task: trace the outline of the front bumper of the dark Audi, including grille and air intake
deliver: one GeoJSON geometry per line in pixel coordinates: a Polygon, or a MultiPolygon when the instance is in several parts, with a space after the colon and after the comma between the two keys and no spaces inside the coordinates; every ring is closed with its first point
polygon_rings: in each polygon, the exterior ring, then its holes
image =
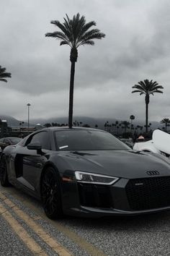
{"type": "Polygon", "coordinates": [[[63,201],[69,215],[134,216],[170,210],[170,176],[120,179],[111,186],[81,182],[72,186],[63,201]]]}

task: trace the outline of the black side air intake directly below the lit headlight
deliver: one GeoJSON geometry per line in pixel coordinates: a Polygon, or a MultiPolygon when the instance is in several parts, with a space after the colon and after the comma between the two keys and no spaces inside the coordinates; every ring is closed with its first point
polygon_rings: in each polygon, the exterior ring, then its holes
{"type": "Polygon", "coordinates": [[[80,204],[89,207],[113,207],[109,186],[78,183],[80,204]]]}

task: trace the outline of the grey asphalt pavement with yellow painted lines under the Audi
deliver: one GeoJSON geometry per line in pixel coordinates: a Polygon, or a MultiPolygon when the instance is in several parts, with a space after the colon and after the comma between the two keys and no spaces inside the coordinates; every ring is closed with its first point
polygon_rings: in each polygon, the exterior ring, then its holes
{"type": "Polygon", "coordinates": [[[51,221],[42,205],[0,187],[0,255],[170,255],[170,212],[51,221]]]}

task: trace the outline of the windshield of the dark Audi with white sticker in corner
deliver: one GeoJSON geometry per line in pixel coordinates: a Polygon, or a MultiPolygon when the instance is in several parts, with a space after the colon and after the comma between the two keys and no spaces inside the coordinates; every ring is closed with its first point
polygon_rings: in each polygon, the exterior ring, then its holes
{"type": "Polygon", "coordinates": [[[109,132],[85,129],[55,131],[58,150],[130,150],[109,132]]]}

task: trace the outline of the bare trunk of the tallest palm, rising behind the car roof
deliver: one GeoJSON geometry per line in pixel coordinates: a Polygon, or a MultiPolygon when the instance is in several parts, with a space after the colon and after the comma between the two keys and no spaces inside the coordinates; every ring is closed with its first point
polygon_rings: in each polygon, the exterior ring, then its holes
{"type": "Polygon", "coordinates": [[[70,95],[69,95],[69,111],[68,111],[68,127],[73,126],[73,83],[75,73],[75,61],[71,61],[71,77],[70,77],[70,95]]]}

